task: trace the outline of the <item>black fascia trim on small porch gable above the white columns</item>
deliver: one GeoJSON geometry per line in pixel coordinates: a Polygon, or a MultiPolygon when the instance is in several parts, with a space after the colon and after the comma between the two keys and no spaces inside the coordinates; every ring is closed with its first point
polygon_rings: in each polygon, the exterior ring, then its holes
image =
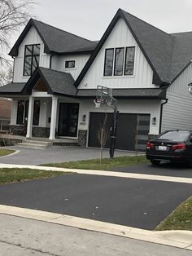
{"type": "Polygon", "coordinates": [[[24,86],[24,89],[22,90],[21,93],[26,95],[31,95],[33,86],[35,86],[35,84],[37,83],[40,77],[42,78],[43,82],[46,83],[46,86],[48,88],[48,93],[50,95],[53,95],[53,90],[51,90],[49,83],[46,81],[46,78],[41,73],[41,69],[38,67],[34,71],[33,75],[28,79],[28,82],[26,82],[26,85],[24,86]]]}

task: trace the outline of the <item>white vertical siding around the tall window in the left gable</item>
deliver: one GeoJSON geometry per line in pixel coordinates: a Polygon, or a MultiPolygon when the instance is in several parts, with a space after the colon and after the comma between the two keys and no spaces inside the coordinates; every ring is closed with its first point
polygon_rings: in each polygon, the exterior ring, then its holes
{"type": "Polygon", "coordinates": [[[18,56],[15,57],[13,82],[27,82],[29,77],[23,76],[24,71],[24,46],[30,44],[41,44],[39,65],[44,68],[50,66],[50,55],[44,53],[44,43],[42,42],[37,30],[32,27],[29,29],[23,42],[20,44],[18,56]]]}

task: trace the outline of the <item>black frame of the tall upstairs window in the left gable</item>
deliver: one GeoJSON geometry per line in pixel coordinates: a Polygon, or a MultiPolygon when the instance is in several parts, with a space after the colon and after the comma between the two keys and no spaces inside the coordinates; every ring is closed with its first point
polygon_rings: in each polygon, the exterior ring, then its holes
{"type": "Polygon", "coordinates": [[[40,52],[41,52],[41,44],[40,43],[29,44],[29,45],[25,45],[24,46],[24,70],[23,70],[23,76],[24,77],[29,77],[29,76],[31,76],[33,74],[33,72],[34,72],[34,70],[33,70],[33,59],[35,59],[35,61],[37,63],[37,67],[39,66],[40,52]],[[28,46],[32,46],[32,54],[30,54],[30,55],[26,53],[28,46]],[[38,54],[34,53],[34,46],[39,46],[39,53],[38,54]],[[25,74],[25,60],[26,60],[27,57],[31,57],[32,58],[32,60],[31,60],[31,67],[30,67],[30,74],[25,74]],[[38,61],[37,61],[36,57],[39,57],[38,61]]]}

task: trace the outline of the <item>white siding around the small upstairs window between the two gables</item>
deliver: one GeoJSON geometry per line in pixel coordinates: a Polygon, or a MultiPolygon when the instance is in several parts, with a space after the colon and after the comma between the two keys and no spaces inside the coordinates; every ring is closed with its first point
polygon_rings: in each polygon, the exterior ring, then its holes
{"type": "Polygon", "coordinates": [[[54,55],[52,57],[51,68],[59,70],[62,72],[71,73],[72,77],[76,78],[81,73],[81,70],[84,68],[87,60],[89,60],[89,54],[85,55],[54,55]],[[65,61],[75,60],[75,68],[65,68],[65,61]]]}

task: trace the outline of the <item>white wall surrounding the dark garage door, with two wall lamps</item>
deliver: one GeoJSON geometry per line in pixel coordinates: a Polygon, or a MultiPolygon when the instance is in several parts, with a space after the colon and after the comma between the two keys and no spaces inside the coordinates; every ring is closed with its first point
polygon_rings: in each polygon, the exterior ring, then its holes
{"type": "MultiPolygon", "coordinates": [[[[156,100],[119,100],[118,110],[120,113],[140,113],[140,114],[150,114],[150,134],[159,134],[159,118],[160,118],[160,103],[161,101],[156,100]],[[156,117],[156,124],[152,125],[152,118],[156,117]]],[[[95,104],[91,100],[83,100],[80,104],[79,110],[79,125],[78,130],[89,130],[89,113],[111,113],[113,112],[111,108],[107,105],[102,104],[100,108],[95,108],[95,104]],[[82,121],[83,115],[86,115],[86,121],[82,121]]]]}

